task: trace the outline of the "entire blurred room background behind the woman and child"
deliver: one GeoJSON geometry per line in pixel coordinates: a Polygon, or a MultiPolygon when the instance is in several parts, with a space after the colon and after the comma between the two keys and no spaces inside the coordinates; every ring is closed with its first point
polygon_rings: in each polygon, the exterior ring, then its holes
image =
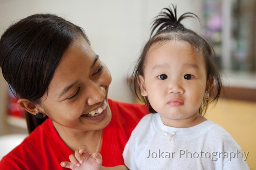
{"type": "MultiPolygon", "coordinates": [[[[224,90],[206,117],[223,126],[249,152],[256,170],[256,1],[255,0],[0,0],[0,35],[34,13],[53,13],[85,29],[93,50],[112,74],[109,98],[137,102],[127,79],[149,38],[150,23],[162,8],[177,4],[177,15],[201,18],[183,24],[204,35],[217,53],[224,90]]],[[[0,135],[27,134],[23,112],[0,75],[0,135]]],[[[1,159],[1,158],[0,158],[1,159]]]]}

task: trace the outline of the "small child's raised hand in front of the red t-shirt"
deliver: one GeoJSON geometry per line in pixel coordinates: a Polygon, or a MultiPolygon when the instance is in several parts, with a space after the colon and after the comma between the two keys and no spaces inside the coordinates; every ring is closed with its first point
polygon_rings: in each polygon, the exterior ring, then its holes
{"type": "Polygon", "coordinates": [[[100,170],[102,157],[100,153],[91,153],[84,145],[75,154],[69,155],[70,162],[61,162],[60,166],[72,170],[100,170]]]}

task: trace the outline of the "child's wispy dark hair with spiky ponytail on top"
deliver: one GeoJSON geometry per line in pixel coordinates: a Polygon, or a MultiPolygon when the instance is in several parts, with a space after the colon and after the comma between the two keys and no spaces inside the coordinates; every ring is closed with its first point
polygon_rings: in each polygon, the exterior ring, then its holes
{"type": "Polygon", "coordinates": [[[130,89],[134,92],[134,94],[139,98],[140,101],[148,104],[149,111],[151,113],[156,113],[156,111],[151,107],[148,98],[141,95],[140,88],[137,83],[138,76],[144,76],[145,60],[146,56],[148,55],[148,51],[153,44],[156,44],[158,42],[165,42],[170,40],[185,41],[192,47],[194,47],[194,49],[197,49],[197,52],[201,52],[204,57],[207,71],[206,90],[209,92],[209,98],[204,98],[201,107],[199,108],[199,113],[204,114],[207,110],[209,103],[217,103],[222,88],[220,71],[217,65],[214,63],[215,52],[206,39],[204,39],[202,36],[198,35],[194,31],[185,28],[181,24],[181,21],[184,18],[198,18],[198,16],[191,12],[187,12],[181,15],[180,18],[177,18],[176,6],[172,5],[172,7],[173,10],[170,6],[169,8],[163,8],[160,14],[155,17],[155,20],[153,21],[153,25],[151,27],[152,30],[150,39],[142,49],[142,53],[137,61],[137,64],[135,65],[135,69],[133,71],[130,81],[130,89]],[[153,34],[155,30],[156,33],[153,34]]]}

